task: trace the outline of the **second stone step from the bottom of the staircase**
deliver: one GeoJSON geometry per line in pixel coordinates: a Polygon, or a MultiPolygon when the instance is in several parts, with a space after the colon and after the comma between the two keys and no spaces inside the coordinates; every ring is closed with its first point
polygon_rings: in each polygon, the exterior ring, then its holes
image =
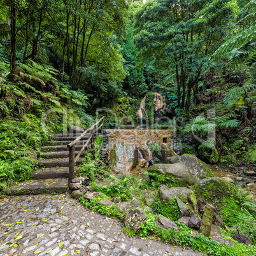
{"type": "MultiPolygon", "coordinates": [[[[80,167],[75,166],[75,172],[79,173],[80,167]]],[[[46,180],[54,178],[68,178],[68,167],[52,167],[52,168],[40,168],[31,173],[33,180],[46,180]]]]}

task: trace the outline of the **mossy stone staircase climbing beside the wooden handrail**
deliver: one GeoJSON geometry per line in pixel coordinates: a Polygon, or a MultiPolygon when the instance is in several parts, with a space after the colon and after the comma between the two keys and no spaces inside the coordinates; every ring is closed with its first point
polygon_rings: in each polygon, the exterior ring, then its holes
{"type": "MultiPolygon", "coordinates": [[[[54,134],[53,140],[48,142],[48,146],[41,147],[38,168],[31,174],[32,180],[13,185],[6,191],[10,195],[21,194],[55,194],[68,190],[69,176],[69,151],[67,145],[74,141],[77,134],[54,134]]],[[[76,143],[76,154],[82,149],[83,143],[90,134],[76,143]]],[[[90,144],[89,144],[90,145],[90,144]]],[[[85,152],[82,153],[76,162],[75,171],[79,173],[79,165],[83,162],[85,152]]]]}

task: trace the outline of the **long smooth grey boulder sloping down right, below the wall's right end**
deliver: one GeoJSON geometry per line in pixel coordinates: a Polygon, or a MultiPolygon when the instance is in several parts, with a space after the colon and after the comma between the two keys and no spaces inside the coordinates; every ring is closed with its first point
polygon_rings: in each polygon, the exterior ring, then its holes
{"type": "Polygon", "coordinates": [[[154,164],[148,168],[148,172],[173,177],[174,180],[181,186],[191,186],[196,183],[196,179],[190,173],[188,167],[182,163],[154,164]]]}

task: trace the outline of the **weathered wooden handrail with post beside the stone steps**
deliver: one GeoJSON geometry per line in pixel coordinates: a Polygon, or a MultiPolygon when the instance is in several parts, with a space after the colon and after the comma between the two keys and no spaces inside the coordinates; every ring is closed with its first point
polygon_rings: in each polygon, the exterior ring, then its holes
{"type": "Polygon", "coordinates": [[[90,140],[92,140],[94,138],[94,134],[95,132],[97,132],[99,129],[101,129],[101,127],[103,127],[103,123],[104,123],[104,118],[102,117],[101,119],[99,119],[98,122],[96,122],[94,125],[92,125],[89,129],[87,129],[86,131],[84,131],[78,138],[76,138],[74,141],[72,141],[71,143],[69,143],[68,148],[69,148],[69,178],[68,178],[68,183],[71,183],[71,180],[73,180],[73,178],[75,178],[75,164],[78,161],[80,155],[83,153],[83,151],[85,150],[85,148],[89,145],[90,140]],[[97,127],[96,129],[94,129],[98,124],[100,124],[102,122],[101,125],[99,125],[99,127],[97,127]],[[90,137],[89,139],[87,139],[87,141],[85,142],[85,145],[83,145],[82,149],[80,150],[80,152],[78,152],[78,154],[75,157],[75,152],[76,152],[76,143],[78,143],[78,141],[80,141],[80,139],[82,139],[85,134],[90,132],[90,137]]]}

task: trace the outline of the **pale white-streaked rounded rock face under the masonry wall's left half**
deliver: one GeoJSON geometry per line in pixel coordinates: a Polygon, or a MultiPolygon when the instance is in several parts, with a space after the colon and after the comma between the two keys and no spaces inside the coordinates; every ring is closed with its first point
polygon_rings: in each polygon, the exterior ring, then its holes
{"type": "Polygon", "coordinates": [[[134,145],[118,141],[110,150],[111,171],[123,174],[131,172],[138,164],[138,148],[134,145]]]}

